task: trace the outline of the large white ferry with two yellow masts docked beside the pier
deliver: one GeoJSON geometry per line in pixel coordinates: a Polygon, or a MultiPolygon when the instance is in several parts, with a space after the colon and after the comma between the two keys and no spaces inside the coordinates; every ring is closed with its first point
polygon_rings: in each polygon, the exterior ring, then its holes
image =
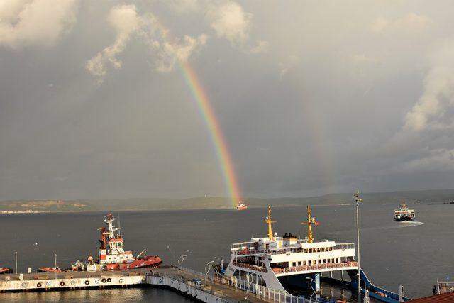
{"type": "MultiPolygon", "coordinates": [[[[287,292],[319,291],[323,282],[338,285],[342,289],[342,298],[338,299],[345,298],[343,290],[358,287],[355,244],[314,241],[312,228],[317,222],[311,216],[309,205],[307,221],[303,222],[308,226],[307,237],[304,239],[297,238],[292,233],[286,233],[284,236],[273,233],[272,224],[275,222],[271,218],[270,206],[265,222],[268,227],[267,237],[251,238],[248,242],[231,245],[231,260],[226,270],[223,270],[221,265],[220,272],[231,282],[243,280],[287,292]],[[348,279],[344,279],[344,272],[347,272],[348,279]]],[[[398,294],[375,287],[362,271],[361,285],[363,292],[367,287],[371,299],[375,298],[374,302],[399,302],[398,294]]],[[[348,302],[350,299],[355,300],[355,294],[348,297],[348,302]]],[[[408,298],[402,295],[402,299],[408,298]]]]}

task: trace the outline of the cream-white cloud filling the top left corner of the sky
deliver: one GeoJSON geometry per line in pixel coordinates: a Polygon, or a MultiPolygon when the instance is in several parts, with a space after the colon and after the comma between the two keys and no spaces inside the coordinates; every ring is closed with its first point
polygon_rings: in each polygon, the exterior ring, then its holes
{"type": "Polygon", "coordinates": [[[76,21],[77,0],[0,1],[0,45],[51,46],[76,21]]]}

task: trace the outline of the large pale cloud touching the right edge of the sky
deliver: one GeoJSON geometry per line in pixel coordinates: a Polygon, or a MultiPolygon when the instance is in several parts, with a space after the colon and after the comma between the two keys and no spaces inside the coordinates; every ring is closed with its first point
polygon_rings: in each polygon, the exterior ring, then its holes
{"type": "Polygon", "coordinates": [[[406,114],[404,129],[450,128],[453,117],[447,111],[454,106],[454,40],[431,55],[431,68],[424,79],[424,92],[406,114]]]}

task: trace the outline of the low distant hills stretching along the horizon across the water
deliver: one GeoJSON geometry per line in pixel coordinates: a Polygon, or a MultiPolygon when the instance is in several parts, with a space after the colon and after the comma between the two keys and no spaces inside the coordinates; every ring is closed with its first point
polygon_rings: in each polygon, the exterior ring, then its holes
{"type": "MultiPolygon", "coordinates": [[[[367,203],[399,204],[402,201],[421,201],[424,203],[442,203],[454,200],[454,189],[421,190],[406,192],[377,192],[361,194],[367,203]]],[[[353,194],[326,194],[319,197],[304,198],[247,198],[249,207],[298,206],[306,204],[349,204],[353,203],[353,194]]],[[[230,199],[226,197],[194,197],[189,199],[169,198],[134,198],[134,199],[99,199],[99,200],[37,200],[3,201],[0,211],[121,211],[153,209],[229,209],[230,199]]]]}

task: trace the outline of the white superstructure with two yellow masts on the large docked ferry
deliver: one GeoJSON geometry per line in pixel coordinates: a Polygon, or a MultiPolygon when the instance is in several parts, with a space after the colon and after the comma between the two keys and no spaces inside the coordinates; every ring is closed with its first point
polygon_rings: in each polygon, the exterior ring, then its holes
{"type": "Polygon", "coordinates": [[[304,222],[308,225],[307,238],[297,238],[292,233],[282,237],[273,234],[270,206],[265,222],[268,224],[267,237],[232,244],[231,260],[224,272],[226,277],[248,280],[252,276],[255,283],[285,290],[279,281],[281,277],[302,275],[301,284],[305,284],[306,274],[358,269],[354,243],[314,241],[312,224],[317,222],[311,217],[310,206],[308,221],[304,222]]]}

